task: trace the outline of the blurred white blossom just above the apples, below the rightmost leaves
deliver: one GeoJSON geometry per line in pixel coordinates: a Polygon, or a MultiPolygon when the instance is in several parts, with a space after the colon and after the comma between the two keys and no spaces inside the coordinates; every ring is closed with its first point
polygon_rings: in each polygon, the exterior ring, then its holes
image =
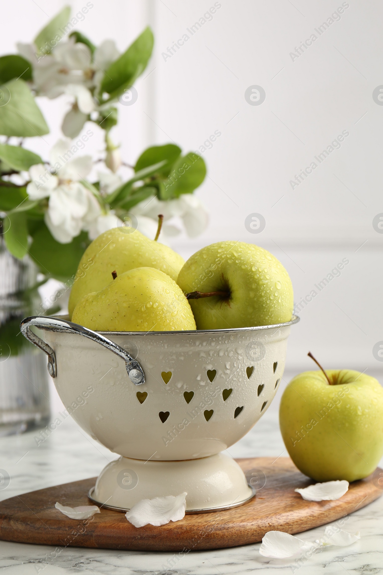
{"type": "MultiPolygon", "coordinates": [[[[206,209],[203,207],[199,198],[192,194],[181,194],[179,198],[168,201],[158,200],[156,196],[152,196],[152,198],[147,198],[131,208],[130,212],[133,213],[137,219],[138,216],[151,218],[156,223],[156,229],[158,214],[163,214],[164,225],[161,235],[168,237],[180,233],[180,229],[174,225],[165,224],[167,220],[171,220],[173,217],[181,218],[189,237],[198,236],[206,229],[208,223],[206,209]]],[[[140,229],[140,226],[138,229],[140,229]]],[[[142,230],[140,229],[140,231],[142,230]]],[[[144,231],[142,231],[142,233],[147,235],[144,231]]]]}

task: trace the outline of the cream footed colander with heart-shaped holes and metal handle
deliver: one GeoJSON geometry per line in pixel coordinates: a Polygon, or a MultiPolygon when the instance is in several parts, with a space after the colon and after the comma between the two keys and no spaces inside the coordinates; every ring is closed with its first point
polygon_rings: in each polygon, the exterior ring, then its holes
{"type": "Polygon", "coordinates": [[[47,353],[73,419],[122,456],[100,474],[95,501],[129,509],[143,497],[187,491],[189,511],[208,511],[252,496],[237,463],[220,452],[268,409],[297,321],[96,333],[55,317],[29,317],[21,331],[47,353]]]}

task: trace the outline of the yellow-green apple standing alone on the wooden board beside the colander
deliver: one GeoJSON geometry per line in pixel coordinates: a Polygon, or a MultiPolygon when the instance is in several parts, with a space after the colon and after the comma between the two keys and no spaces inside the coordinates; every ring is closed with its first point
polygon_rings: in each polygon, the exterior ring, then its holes
{"type": "Polygon", "coordinates": [[[316,481],[362,479],[383,455],[383,388],[359,371],[296,375],[281,398],[279,421],[291,459],[316,481]]]}

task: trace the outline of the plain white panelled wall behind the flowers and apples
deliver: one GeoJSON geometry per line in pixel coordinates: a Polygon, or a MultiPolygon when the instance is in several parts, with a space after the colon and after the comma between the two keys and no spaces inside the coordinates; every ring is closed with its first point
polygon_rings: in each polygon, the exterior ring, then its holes
{"type": "MultiPolygon", "coordinates": [[[[86,2],[72,3],[76,12],[86,2]]],[[[338,0],[220,0],[222,6],[172,57],[181,38],[212,0],[94,0],[78,26],[95,43],[113,38],[123,50],[150,24],[156,44],[137,82],[138,100],[119,106],[114,130],[126,162],[134,163],[153,143],[175,141],[198,150],[215,130],[222,132],[204,152],[208,177],[198,190],[210,226],[196,240],[183,237],[185,257],[223,239],[257,243],[273,252],[291,275],[295,301],[343,258],[349,264],[300,313],[292,328],[288,369],[311,369],[310,349],[326,367],[378,373],[383,363],[372,348],[383,340],[382,241],[372,220],[383,212],[381,156],[383,106],[372,98],[383,84],[383,6],[350,0],[303,55],[290,52],[339,7],[338,0]],[[149,75],[149,72],[152,74],[149,75]],[[260,85],[266,99],[250,106],[245,90],[260,85]],[[289,181],[309,166],[342,131],[349,136],[307,180],[289,181]],[[266,228],[247,232],[245,218],[261,213],[266,228]]],[[[1,53],[16,39],[30,41],[62,6],[61,0],[14,0],[2,7],[1,53]]],[[[47,157],[59,136],[63,98],[42,99],[53,133],[29,147],[47,157]]],[[[87,129],[87,128],[85,128],[87,129]]],[[[86,152],[101,149],[100,131],[86,152]]],[[[316,162],[318,163],[318,162],[316,162]]],[[[318,290],[316,290],[318,291],[318,290]]]]}

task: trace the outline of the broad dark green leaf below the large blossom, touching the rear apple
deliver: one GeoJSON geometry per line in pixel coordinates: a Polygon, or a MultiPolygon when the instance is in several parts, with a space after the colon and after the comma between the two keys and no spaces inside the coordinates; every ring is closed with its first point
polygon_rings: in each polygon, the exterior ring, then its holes
{"type": "Polygon", "coordinates": [[[70,244],[60,244],[52,237],[47,226],[42,224],[33,234],[29,254],[43,274],[66,281],[76,275],[79,261],[89,244],[86,232],[73,237],[70,244]]]}

